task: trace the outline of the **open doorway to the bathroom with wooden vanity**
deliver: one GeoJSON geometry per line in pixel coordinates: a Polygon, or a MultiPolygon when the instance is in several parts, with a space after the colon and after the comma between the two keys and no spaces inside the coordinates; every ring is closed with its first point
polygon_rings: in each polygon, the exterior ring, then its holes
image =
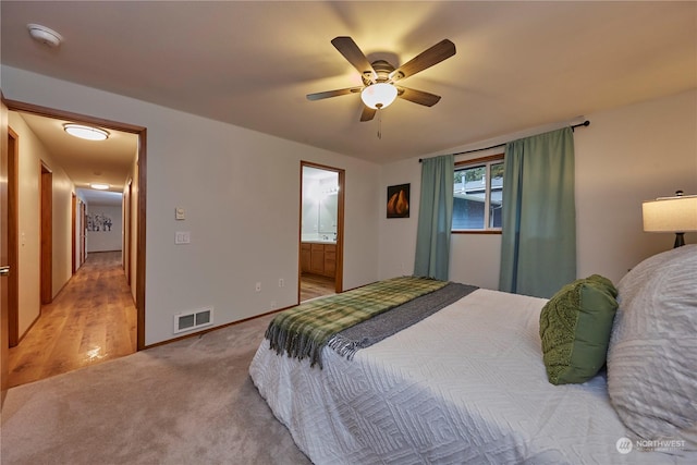
{"type": "Polygon", "coordinates": [[[298,301],[343,289],[344,170],[301,162],[298,301]]]}

